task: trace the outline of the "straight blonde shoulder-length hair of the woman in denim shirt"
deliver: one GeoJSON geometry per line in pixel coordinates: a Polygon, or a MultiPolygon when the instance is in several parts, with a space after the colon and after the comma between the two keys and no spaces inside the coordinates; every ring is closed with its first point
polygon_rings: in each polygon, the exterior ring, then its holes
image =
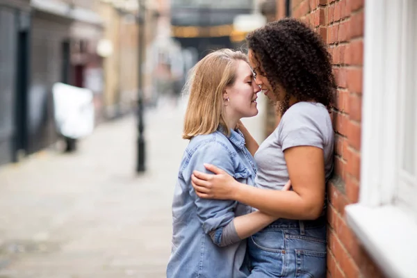
{"type": "Polygon", "coordinates": [[[219,125],[227,136],[230,135],[232,126],[227,126],[224,119],[223,92],[236,81],[238,60],[248,63],[241,51],[220,49],[208,54],[190,70],[183,89],[190,94],[183,139],[213,133],[219,125]]]}

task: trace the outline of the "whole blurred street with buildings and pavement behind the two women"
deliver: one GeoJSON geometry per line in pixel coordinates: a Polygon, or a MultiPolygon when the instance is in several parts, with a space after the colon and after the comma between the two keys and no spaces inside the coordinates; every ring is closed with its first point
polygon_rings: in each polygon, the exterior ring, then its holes
{"type": "Polygon", "coordinates": [[[1,278],[165,277],[187,72],[271,3],[0,0],[1,278]]]}

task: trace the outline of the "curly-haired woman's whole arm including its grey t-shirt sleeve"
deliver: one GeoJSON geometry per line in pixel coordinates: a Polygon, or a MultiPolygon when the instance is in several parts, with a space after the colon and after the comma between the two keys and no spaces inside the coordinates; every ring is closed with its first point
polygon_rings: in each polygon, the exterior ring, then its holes
{"type": "MultiPolygon", "coordinates": [[[[193,179],[193,182],[199,196],[236,199],[280,218],[316,219],[322,212],[325,199],[325,135],[318,127],[322,115],[304,108],[297,109],[287,111],[292,114],[281,119],[281,125],[275,131],[284,152],[293,191],[252,188],[227,178],[225,174],[201,176],[195,172],[199,179],[193,179]]],[[[216,171],[210,165],[208,169],[216,171]]]]}

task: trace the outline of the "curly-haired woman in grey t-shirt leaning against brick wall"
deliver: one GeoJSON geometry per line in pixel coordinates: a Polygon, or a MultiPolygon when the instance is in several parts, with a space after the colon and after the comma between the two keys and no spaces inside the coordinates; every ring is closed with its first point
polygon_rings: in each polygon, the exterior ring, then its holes
{"type": "Polygon", "coordinates": [[[325,184],[333,169],[329,115],[336,83],[320,36],[296,19],[271,22],[247,35],[256,84],[277,103],[281,120],[260,145],[243,127],[258,166],[255,186],[215,165],[195,171],[197,195],[233,199],[279,218],[248,240],[250,277],[325,277],[325,184]],[[293,190],[281,191],[291,180],[293,190]]]}

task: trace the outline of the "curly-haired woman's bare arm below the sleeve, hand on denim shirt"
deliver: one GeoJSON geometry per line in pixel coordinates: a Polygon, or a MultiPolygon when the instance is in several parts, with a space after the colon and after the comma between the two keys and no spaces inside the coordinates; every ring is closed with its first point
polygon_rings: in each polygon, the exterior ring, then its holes
{"type": "Polygon", "coordinates": [[[322,211],[325,198],[325,170],[322,149],[292,147],[284,152],[293,191],[254,188],[230,179],[213,165],[216,175],[194,172],[193,186],[199,197],[236,199],[279,218],[310,220],[322,211]]]}

